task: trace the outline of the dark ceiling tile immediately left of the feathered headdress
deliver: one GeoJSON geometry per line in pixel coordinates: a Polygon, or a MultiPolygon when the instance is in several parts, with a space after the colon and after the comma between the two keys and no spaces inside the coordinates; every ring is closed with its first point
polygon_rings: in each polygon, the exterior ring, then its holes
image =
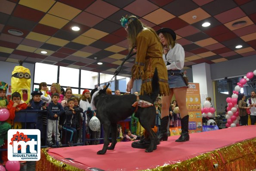
{"type": "Polygon", "coordinates": [[[112,33],[113,31],[116,31],[120,27],[122,27],[121,24],[116,24],[112,21],[103,20],[100,23],[96,24],[93,28],[100,30],[100,31],[107,32],[107,33],[112,33]],[[106,27],[106,26],[108,26],[108,27],[106,27]]]}

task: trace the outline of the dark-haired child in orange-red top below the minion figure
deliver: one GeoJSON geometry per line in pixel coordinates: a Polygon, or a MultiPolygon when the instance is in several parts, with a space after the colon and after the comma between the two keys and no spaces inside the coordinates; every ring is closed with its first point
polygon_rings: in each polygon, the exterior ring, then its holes
{"type": "Polygon", "coordinates": [[[7,122],[12,125],[13,129],[17,129],[13,127],[13,119],[15,117],[15,113],[19,112],[20,110],[27,109],[28,105],[21,100],[21,94],[19,92],[12,93],[12,100],[9,101],[7,105],[7,109],[9,110],[10,116],[7,119],[7,122]]]}

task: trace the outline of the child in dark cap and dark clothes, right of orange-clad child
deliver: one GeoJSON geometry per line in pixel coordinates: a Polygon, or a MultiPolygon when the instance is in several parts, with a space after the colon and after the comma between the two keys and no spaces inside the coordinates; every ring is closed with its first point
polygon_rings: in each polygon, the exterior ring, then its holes
{"type": "MultiPolygon", "coordinates": [[[[41,91],[34,91],[31,93],[32,99],[30,103],[28,103],[28,110],[46,110],[45,102],[41,100],[43,93],[41,91]]],[[[30,123],[27,127],[28,129],[39,129],[41,133],[41,142],[45,139],[45,131],[43,130],[43,120],[42,120],[42,113],[37,113],[37,124],[30,123]],[[35,126],[36,125],[36,126],[35,126]]]]}

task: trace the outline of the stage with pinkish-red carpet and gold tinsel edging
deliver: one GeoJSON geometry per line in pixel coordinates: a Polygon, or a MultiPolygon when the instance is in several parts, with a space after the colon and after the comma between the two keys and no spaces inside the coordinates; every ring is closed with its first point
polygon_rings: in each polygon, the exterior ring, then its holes
{"type": "Polygon", "coordinates": [[[115,149],[107,150],[105,155],[96,154],[103,144],[50,148],[47,152],[42,150],[36,168],[38,171],[43,168],[49,171],[48,166],[55,170],[99,168],[105,171],[256,168],[256,125],[194,133],[190,134],[189,141],[182,143],[175,142],[177,138],[168,137],[153,153],[132,148],[131,142],[117,143],[115,149]]]}

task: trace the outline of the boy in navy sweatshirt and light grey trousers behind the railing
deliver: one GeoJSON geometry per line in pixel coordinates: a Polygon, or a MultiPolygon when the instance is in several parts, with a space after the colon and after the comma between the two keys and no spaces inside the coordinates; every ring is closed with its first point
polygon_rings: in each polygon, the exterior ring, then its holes
{"type": "Polygon", "coordinates": [[[49,146],[53,146],[54,143],[52,142],[52,131],[54,137],[56,138],[57,142],[56,145],[62,146],[60,142],[60,134],[59,134],[59,116],[65,113],[62,105],[58,102],[59,101],[59,94],[54,93],[52,95],[52,102],[49,103],[47,109],[47,144],[49,146]]]}

